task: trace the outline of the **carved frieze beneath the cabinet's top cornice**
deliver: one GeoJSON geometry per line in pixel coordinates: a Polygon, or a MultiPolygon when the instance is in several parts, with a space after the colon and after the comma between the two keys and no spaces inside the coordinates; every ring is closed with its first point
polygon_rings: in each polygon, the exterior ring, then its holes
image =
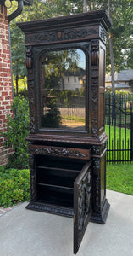
{"type": "Polygon", "coordinates": [[[45,44],[50,42],[58,42],[65,40],[75,40],[82,38],[90,38],[92,35],[97,36],[98,32],[94,28],[77,28],[77,29],[64,29],[53,30],[34,33],[26,36],[26,44],[45,44]]]}

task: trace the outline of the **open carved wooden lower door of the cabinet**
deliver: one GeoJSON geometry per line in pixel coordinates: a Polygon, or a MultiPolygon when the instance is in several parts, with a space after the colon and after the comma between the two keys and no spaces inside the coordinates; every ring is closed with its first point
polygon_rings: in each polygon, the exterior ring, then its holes
{"type": "Polygon", "coordinates": [[[74,183],[74,253],[86,231],[91,216],[91,161],[81,170],[74,183]]]}

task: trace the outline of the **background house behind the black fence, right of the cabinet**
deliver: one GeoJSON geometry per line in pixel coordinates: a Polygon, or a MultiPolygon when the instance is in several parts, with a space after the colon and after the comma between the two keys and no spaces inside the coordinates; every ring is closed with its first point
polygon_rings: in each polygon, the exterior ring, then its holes
{"type": "MultiPolygon", "coordinates": [[[[115,90],[133,90],[133,69],[122,70],[120,73],[114,73],[115,90]]],[[[105,77],[105,89],[112,89],[112,79],[110,75],[105,77]]]]}

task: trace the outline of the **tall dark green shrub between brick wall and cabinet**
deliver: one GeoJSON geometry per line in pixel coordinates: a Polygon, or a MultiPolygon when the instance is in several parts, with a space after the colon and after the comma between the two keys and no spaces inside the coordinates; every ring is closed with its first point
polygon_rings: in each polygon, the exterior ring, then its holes
{"type": "Polygon", "coordinates": [[[6,137],[4,146],[13,147],[14,154],[9,156],[8,167],[24,169],[28,167],[28,142],[25,138],[29,134],[29,107],[25,98],[14,98],[11,107],[14,117],[8,115],[7,131],[1,133],[6,137]]]}

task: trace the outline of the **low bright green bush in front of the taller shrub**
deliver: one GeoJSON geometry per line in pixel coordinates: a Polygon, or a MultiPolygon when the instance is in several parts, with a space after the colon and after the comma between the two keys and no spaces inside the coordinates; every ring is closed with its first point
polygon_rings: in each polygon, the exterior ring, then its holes
{"type": "Polygon", "coordinates": [[[30,201],[30,172],[0,167],[0,205],[14,206],[20,201],[30,201]]]}

